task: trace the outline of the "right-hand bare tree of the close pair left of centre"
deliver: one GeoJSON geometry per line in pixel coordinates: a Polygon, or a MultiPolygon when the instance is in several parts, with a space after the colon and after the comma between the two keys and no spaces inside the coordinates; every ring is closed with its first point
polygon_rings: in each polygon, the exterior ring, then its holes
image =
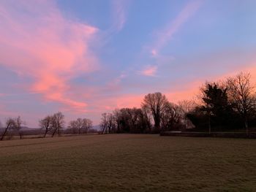
{"type": "Polygon", "coordinates": [[[56,132],[58,135],[61,134],[61,129],[64,128],[64,124],[64,115],[62,114],[62,112],[56,112],[51,119],[51,126],[53,129],[52,137],[54,136],[54,134],[56,134],[56,132]]]}

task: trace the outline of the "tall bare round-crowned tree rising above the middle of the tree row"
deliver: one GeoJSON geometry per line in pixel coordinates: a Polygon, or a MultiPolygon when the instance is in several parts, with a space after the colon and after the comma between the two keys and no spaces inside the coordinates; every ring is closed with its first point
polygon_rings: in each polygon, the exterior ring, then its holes
{"type": "Polygon", "coordinates": [[[168,101],[162,93],[148,93],[143,99],[141,106],[153,116],[156,131],[160,131],[162,112],[167,104],[168,101]]]}

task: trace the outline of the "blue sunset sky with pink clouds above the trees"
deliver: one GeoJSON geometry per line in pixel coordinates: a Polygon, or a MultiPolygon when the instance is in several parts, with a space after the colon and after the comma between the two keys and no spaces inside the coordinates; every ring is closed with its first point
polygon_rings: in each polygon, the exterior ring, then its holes
{"type": "Polygon", "coordinates": [[[38,127],[193,99],[206,80],[256,82],[255,0],[0,0],[0,120],[38,127]]]}

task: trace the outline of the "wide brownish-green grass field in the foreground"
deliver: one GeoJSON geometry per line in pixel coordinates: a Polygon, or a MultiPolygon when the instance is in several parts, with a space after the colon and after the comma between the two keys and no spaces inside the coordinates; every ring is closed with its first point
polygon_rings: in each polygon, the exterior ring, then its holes
{"type": "Polygon", "coordinates": [[[256,139],[110,134],[3,141],[0,191],[256,191],[256,139]]]}

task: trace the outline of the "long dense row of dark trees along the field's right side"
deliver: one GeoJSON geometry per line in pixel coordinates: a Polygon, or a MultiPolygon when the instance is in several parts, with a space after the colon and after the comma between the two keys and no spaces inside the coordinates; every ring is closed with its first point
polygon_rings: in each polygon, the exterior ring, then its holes
{"type": "Polygon", "coordinates": [[[148,93],[140,108],[103,113],[102,134],[161,131],[236,131],[256,126],[256,92],[251,75],[241,72],[206,82],[197,100],[174,104],[162,93],[148,93]]]}

